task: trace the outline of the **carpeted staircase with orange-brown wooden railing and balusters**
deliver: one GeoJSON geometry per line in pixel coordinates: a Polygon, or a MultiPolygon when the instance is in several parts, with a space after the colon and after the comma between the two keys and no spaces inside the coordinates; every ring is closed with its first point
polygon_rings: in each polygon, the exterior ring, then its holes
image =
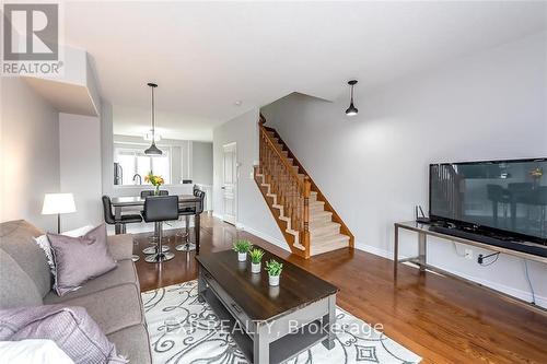
{"type": "Polygon", "coordinates": [[[291,251],[304,257],[353,247],[353,235],[304,167],[260,115],[255,181],[291,251]]]}

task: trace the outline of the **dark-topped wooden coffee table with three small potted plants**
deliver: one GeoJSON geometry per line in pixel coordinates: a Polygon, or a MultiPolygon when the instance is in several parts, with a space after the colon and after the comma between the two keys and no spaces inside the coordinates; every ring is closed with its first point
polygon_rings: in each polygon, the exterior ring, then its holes
{"type": "Polygon", "coordinates": [[[319,341],[334,348],[333,284],[266,251],[263,271],[237,261],[231,250],[200,255],[198,290],[251,363],[280,363],[319,341]],[[268,284],[266,260],[283,263],[279,286],[268,284]]]}

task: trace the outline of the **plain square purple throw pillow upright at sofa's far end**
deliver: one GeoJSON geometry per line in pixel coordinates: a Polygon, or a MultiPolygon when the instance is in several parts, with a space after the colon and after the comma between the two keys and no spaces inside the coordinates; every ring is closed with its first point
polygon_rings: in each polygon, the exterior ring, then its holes
{"type": "Polygon", "coordinates": [[[48,233],[47,238],[55,260],[54,289],[59,296],[116,268],[106,245],[105,224],[80,237],[48,233]]]}

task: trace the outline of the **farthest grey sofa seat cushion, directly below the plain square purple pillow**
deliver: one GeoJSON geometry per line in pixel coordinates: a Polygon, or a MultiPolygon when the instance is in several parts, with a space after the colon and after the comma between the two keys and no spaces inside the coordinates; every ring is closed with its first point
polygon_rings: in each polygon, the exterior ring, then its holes
{"type": "Polygon", "coordinates": [[[47,304],[62,303],[68,300],[85,296],[125,283],[132,283],[139,286],[137,271],[131,260],[118,261],[118,267],[116,267],[114,270],[110,270],[109,272],[95,279],[92,279],[91,281],[82,285],[81,289],[69,292],[63,296],[58,296],[54,291],[50,291],[44,297],[44,302],[46,302],[47,304]]]}

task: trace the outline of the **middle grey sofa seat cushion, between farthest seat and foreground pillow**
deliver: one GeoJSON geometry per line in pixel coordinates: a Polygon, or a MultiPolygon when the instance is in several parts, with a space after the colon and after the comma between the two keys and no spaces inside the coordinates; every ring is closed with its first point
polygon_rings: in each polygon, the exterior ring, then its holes
{"type": "Polygon", "coordinates": [[[144,322],[140,292],[135,284],[121,284],[67,300],[62,305],[84,307],[106,334],[144,322]]]}

